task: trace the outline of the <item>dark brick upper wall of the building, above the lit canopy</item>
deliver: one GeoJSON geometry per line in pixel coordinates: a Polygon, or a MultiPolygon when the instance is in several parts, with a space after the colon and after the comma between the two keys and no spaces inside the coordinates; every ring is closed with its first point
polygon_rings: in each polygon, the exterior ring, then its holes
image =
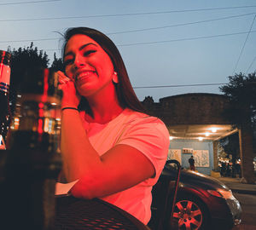
{"type": "Polygon", "coordinates": [[[185,94],[160,99],[154,103],[151,97],[145,98],[143,105],[148,111],[161,118],[164,123],[172,124],[230,124],[222,112],[228,99],[216,94],[185,94]]]}

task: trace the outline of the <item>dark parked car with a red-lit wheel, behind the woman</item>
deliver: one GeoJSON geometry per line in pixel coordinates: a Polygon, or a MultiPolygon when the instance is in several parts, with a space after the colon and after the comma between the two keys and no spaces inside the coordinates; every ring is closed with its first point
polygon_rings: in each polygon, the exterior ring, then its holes
{"type": "Polygon", "coordinates": [[[229,187],[208,175],[181,170],[177,184],[177,198],[173,209],[172,200],[177,178],[177,168],[166,164],[160,179],[153,187],[152,218],[148,224],[157,229],[159,221],[166,221],[167,227],[162,229],[231,229],[241,222],[241,205],[233,196],[229,187]],[[171,192],[166,187],[172,185],[171,192]],[[163,206],[167,204],[167,211],[163,213],[163,206]],[[161,212],[161,213],[160,213],[161,212]],[[173,227],[174,226],[174,227],[173,227]]]}

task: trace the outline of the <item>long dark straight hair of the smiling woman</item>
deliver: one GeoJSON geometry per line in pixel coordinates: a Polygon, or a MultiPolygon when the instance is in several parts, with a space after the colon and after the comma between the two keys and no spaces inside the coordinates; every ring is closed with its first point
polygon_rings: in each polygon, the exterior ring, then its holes
{"type": "MultiPolygon", "coordinates": [[[[130,108],[131,110],[137,112],[145,112],[142,103],[138,100],[137,95],[132,89],[128,73],[125,68],[125,63],[119,53],[119,50],[112,42],[112,40],[110,40],[110,38],[102,32],[87,27],[73,27],[67,29],[67,32],[65,32],[64,34],[65,43],[62,49],[63,60],[67,42],[71,37],[76,34],[84,34],[95,40],[96,43],[98,43],[102,47],[102,49],[104,49],[104,51],[112,60],[114,71],[117,72],[119,78],[119,83],[114,83],[119,105],[123,108],[130,108]]],[[[93,114],[91,114],[89,103],[84,97],[82,97],[79,109],[85,110],[93,116],[93,114]]]]}

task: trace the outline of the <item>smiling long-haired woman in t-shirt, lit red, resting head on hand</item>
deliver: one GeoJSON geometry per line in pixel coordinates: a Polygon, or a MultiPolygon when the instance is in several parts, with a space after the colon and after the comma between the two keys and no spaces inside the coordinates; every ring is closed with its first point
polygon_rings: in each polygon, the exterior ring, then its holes
{"type": "Polygon", "coordinates": [[[102,198],[147,224],[169,133],[135,95],[114,43],[86,27],[64,35],[61,154],[78,198],[102,198]]]}

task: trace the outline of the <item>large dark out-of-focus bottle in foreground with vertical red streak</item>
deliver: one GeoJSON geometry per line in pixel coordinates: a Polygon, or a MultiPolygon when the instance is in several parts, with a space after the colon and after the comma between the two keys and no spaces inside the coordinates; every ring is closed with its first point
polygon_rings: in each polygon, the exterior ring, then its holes
{"type": "MultiPolygon", "coordinates": [[[[8,135],[5,220],[9,229],[51,230],[61,170],[61,92],[49,69],[23,76],[8,135]]],[[[1,225],[1,223],[0,223],[1,225]]],[[[1,226],[0,226],[1,229],[1,226]]]]}

